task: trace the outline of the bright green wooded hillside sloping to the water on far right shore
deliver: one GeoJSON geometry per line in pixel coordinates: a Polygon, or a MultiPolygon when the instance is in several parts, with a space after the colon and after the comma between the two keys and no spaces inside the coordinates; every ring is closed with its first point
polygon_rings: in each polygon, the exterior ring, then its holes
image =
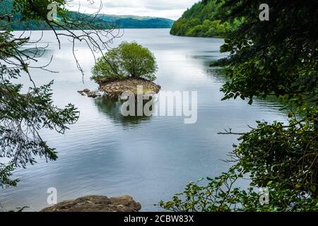
{"type": "Polygon", "coordinates": [[[171,35],[190,37],[224,37],[226,32],[235,30],[240,20],[221,21],[223,1],[200,1],[185,11],[170,30],[171,35]]]}

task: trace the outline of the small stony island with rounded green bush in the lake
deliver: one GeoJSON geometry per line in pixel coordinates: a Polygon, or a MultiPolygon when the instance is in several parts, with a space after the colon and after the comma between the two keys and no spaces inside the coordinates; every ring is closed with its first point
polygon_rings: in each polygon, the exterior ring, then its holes
{"type": "Polygon", "coordinates": [[[137,94],[137,87],[143,93],[159,93],[161,87],[153,83],[158,66],[155,56],[149,49],[137,42],[122,42],[119,47],[100,57],[92,69],[91,79],[98,83],[99,90],[78,91],[81,95],[98,97],[102,93],[119,96],[126,91],[137,94]]]}

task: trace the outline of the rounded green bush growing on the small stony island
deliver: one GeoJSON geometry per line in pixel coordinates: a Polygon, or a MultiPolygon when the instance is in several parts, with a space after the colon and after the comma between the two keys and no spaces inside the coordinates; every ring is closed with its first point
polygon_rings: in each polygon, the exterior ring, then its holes
{"type": "Polygon", "coordinates": [[[158,66],[153,53],[137,42],[122,42],[98,59],[92,69],[92,80],[107,81],[124,78],[146,78],[155,80],[158,66]]]}

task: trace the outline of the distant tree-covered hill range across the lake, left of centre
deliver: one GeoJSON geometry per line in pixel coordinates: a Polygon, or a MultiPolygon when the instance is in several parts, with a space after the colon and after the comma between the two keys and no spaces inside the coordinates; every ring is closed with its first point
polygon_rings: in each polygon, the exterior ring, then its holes
{"type": "MultiPolygon", "coordinates": [[[[0,1],[0,13],[1,15],[11,14],[11,22],[8,23],[6,20],[0,20],[0,30],[50,30],[51,28],[43,19],[38,18],[27,18],[25,14],[18,11],[14,11],[12,0],[0,1]],[[24,18],[23,18],[24,17],[24,18]]],[[[39,7],[39,4],[37,4],[39,7]]],[[[45,13],[49,12],[46,9],[46,5],[43,7],[45,13]]],[[[25,8],[25,13],[30,11],[30,8],[25,8]]],[[[141,17],[141,16],[112,16],[112,15],[88,15],[79,13],[76,11],[60,11],[63,16],[67,16],[70,21],[76,21],[77,23],[91,24],[94,28],[105,30],[112,28],[171,28],[174,23],[173,20],[167,18],[154,18],[154,17],[141,17]]],[[[43,15],[45,16],[45,15],[43,15]]],[[[62,16],[57,17],[58,23],[66,23],[62,16]]],[[[90,30],[90,26],[83,25],[82,29],[90,30]]],[[[57,30],[61,30],[58,28],[57,30]]]]}

